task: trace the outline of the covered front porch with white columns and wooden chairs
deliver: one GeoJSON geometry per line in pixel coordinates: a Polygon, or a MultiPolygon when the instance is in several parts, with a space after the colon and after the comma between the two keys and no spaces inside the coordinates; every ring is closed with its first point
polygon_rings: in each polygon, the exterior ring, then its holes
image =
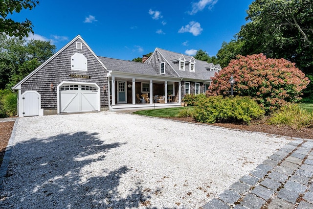
{"type": "Polygon", "coordinates": [[[108,76],[110,110],[179,107],[179,78],[114,73],[108,76]]]}

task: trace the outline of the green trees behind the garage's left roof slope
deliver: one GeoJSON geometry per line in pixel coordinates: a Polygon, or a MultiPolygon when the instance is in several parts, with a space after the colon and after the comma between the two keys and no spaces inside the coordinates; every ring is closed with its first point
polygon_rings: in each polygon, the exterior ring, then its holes
{"type": "Polygon", "coordinates": [[[55,49],[50,41],[26,41],[0,34],[0,89],[13,87],[50,58],[55,49]]]}

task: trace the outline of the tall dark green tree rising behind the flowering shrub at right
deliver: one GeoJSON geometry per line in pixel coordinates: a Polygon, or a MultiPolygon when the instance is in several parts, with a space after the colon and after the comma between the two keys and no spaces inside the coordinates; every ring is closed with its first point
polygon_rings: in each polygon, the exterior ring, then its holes
{"type": "Polygon", "coordinates": [[[313,68],[312,0],[255,0],[238,34],[243,55],[264,53],[285,58],[304,72],[313,68]]]}

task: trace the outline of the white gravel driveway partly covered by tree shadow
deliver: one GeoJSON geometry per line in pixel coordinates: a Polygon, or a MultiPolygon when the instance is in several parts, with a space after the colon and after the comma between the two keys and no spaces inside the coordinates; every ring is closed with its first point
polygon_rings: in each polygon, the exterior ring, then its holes
{"type": "Polygon", "coordinates": [[[24,117],[0,208],[196,209],[289,141],[116,112],[24,117]]]}

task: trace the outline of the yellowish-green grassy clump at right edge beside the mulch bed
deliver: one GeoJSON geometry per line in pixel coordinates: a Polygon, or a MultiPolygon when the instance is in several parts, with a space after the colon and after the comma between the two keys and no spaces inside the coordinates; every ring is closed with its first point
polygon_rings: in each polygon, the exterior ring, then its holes
{"type": "Polygon", "coordinates": [[[301,130],[313,127],[313,113],[302,109],[297,104],[288,104],[271,114],[269,124],[288,125],[292,129],[301,130]]]}

